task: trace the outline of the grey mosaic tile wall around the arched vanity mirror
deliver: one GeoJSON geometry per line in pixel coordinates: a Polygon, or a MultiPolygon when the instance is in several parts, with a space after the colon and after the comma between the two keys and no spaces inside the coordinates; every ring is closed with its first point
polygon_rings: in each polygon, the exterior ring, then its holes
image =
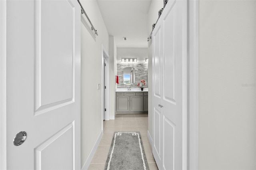
{"type": "Polygon", "coordinates": [[[130,85],[124,84],[123,79],[123,70],[125,67],[133,67],[135,69],[135,83],[131,85],[132,88],[137,88],[138,83],[140,83],[140,80],[145,80],[145,86],[148,87],[148,63],[142,62],[142,63],[117,63],[117,75],[118,75],[118,81],[119,84],[117,84],[117,88],[127,88],[130,87],[130,85]]]}

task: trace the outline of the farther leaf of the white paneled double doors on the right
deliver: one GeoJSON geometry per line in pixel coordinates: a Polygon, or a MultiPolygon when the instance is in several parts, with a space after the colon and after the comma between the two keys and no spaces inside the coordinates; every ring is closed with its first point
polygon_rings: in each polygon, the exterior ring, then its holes
{"type": "Polygon", "coordinates": [[[161,77],[161,55],[162,55],[162,29],[158,24],[152,33],[152,111],[153,111],[153,146],[152,151],[156,164],[161,165],[162,157],[162,111],[159,105],[162,102],[162,77],[161,77]]]}

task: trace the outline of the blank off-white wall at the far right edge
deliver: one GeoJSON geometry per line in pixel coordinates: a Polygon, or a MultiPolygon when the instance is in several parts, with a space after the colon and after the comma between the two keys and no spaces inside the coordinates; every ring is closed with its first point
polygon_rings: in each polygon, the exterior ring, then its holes
{"type": "Polygon", "coordinates": [[[256,1],[200,0],[198,169],[256,169],[255,58],[256,1]]]}

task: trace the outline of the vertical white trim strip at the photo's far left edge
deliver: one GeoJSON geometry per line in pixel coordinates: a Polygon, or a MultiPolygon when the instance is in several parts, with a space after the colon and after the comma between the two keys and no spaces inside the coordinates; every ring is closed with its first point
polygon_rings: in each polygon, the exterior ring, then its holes
{"type": "Polygon", "coordinates": [[[6,148],[6,0],[0,0],[0,169],[7,169],[6,148]]]}

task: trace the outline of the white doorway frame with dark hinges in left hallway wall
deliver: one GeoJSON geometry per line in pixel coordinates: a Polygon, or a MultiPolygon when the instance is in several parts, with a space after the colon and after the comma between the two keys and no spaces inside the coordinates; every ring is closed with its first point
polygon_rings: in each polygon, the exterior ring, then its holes
{"type": "MultiPolygon", "coordinates": [[[[105,120],[110,120],[110,77],[109,77],[109,55],[104,48],[104,45],[101,45],[102,47],[102,124],[103,124],[103,114],[105,114],[105,120]],[[104,60],[106,61],[106,67],[104,66],[104,60]],[[104,67],[105,67],[105,73],[104,73],[104,67]],[[104,84],[106,83],[106,91],[104,89],[104,84]],[[105,92],[105,94],[104,94],[105,92]],[[106,112],[105,112],[105,99],[106,100],[106,112]]],[[[103,128],[103,125],[102,125],[103,128]]]]}

